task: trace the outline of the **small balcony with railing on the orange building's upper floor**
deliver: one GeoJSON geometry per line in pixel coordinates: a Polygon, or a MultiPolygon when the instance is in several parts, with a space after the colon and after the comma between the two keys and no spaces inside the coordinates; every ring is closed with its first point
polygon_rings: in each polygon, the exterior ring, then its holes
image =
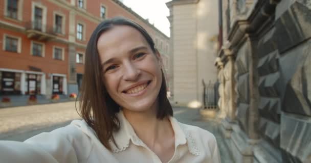
{"type": "Polygon", "coordinates": [[[47,41],[56,37],[53,26],[42,24],[41,21],[29,21],[25,27],[28,38],[47,41]]]}

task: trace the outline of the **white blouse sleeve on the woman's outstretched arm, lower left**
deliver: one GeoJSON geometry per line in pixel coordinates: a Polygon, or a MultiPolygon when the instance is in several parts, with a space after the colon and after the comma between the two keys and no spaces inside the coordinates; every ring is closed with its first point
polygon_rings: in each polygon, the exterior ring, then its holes
{"type": "Polygon", "coordinates": [[[76,151],[64,131],[43,132],[25,142],[0,141],[0,162],[76,163],[76,151]]]}

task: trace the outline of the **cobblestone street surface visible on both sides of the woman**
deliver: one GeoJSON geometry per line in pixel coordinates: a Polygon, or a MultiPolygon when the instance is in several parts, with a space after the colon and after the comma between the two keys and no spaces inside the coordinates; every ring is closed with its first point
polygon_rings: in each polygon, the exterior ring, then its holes
{"type": "MultiPolygon", "coordinates": [[[[182,123],[212,132],[218,142],[221,162],[233,162],[218,130],[218,122],[201,119],[197,109],[174,107],[174,117],[182,123]]],[[[0,140],[24,141],[40,132],[62,127],[80,116],[75,102],[10,107],[0,109],[0,140]]]]}

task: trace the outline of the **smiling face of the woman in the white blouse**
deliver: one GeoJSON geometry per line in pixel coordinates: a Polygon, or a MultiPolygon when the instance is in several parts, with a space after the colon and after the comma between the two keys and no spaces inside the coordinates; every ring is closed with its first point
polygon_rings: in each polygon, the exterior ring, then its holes
{"type": "Polygon", "coordinates": [[[104,85],[112,99],[128,111],[157,106],[162,84],[160,56],[138,30],[114,26],[99,37],[97,48],[104,85]]]}

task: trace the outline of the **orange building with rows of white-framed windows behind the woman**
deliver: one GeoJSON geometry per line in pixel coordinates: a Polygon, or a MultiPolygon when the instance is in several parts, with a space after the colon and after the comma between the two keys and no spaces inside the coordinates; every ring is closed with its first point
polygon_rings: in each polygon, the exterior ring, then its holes
{"type": "Polygon", "coordinates": [[[115,16],[141,24],[169,63],[169,38],[120,1],[0,1],[0,96],[77,93],[87,41],[102,20],[115,16]]]}

